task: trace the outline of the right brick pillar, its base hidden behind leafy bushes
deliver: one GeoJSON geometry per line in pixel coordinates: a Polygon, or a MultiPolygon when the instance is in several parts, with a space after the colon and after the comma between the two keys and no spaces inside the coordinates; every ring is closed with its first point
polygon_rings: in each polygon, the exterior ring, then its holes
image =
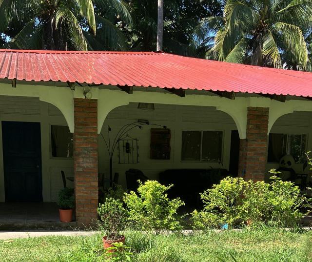
{"type": "Polygon", "coordinates": [[[263,181],[267,162],[269,108],[248,107],[246,139],[240,140],[238,176],[263,181]]]}

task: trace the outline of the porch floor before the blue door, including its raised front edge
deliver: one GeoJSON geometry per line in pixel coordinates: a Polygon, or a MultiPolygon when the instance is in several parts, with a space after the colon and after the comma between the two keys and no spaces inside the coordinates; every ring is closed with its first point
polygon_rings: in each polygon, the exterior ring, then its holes
{"type": "Polygon", "coordinates": [[[0,230],[75,226],[59,221],[56,203],[0,203],[0,230]]]}

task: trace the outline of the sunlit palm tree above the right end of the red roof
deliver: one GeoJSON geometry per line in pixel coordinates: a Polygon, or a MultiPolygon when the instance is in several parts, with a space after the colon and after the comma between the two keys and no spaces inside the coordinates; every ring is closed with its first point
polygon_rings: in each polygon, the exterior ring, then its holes
{"type": "Polygon", "coordinates": [[[209,18],[207,24],[217,60],[307,68],[304,34],[312,28],[312,0],[227,0],[223,21],[209,18]]]}

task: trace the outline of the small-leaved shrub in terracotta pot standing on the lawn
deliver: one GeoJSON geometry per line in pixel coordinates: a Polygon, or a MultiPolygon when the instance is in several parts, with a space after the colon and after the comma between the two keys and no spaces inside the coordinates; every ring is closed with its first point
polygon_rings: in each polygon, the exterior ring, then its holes
{"type": "Polygon", "coordinates": [[[107,198],[104,204],[99,204],[98,215],[100,228],[105,233],[103,247],[107,252],[114,252],[114,243],[125,242],[121,231],[127,225],[128,211],[119,199],[107,198]]]}

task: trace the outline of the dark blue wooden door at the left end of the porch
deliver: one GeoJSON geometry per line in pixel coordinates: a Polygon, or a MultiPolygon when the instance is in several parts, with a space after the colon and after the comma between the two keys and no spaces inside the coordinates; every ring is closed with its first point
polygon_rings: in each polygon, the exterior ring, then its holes
{"type": "Polygon", "coordinates": [[[41,202],[40,123],[2,121],[6,202],[41,202]]]}

